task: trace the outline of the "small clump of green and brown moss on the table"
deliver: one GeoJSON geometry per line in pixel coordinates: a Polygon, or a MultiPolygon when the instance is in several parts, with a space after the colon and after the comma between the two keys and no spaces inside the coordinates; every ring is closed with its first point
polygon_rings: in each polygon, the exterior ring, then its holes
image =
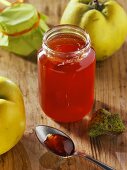
{"type": "Polygon", "coordinates": [[[125,126],[119,114],[112,114],[105,109],[98,110],[90,121],[89,136],[97,137],[108,133],[121,133],[125,126]]]}

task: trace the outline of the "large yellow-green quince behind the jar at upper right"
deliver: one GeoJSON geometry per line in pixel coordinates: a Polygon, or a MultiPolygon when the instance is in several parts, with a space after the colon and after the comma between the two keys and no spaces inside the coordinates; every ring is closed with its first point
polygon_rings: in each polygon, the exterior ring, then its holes
{"type": "Polygon", "coordinates": [[[71,0],[60,23],[85,29],[98,61],[117,51],[127,35],[127,14],[115,0],[71,0]]]}

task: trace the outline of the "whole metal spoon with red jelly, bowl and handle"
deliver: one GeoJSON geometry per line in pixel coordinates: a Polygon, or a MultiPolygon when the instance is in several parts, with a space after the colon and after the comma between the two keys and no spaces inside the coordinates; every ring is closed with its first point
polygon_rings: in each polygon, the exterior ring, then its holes
{"type": "Polygon", "coordinates": [[[56,128],[46,126],[46,125],[40,125],[40,126],[36,127],[35,131],[36,131],[36,135],[37,135],[39,141],[49,151],[55,153],[58,156],[62,156],[62,157],[80,156],[80,157],[83,157],[83,158],[93,162],[94,164],[98,165],[99,167],[101,167],[104,170],[115,170],[115,169],[109,167],[108,165],[92,158],[91,156],[87,155],[86,153],[75,151],[75,145],[74,145],[74,142],[72,141],[72,139],[68,135],[66,135],[65,133],[63,133],[62,131],[60,131],[56,128]],[[62,140],[58,140],[56,143],[53,141],[52,145],[48,145],[48,142],[52,142],[51,140],[54,140],[57,137],[58,137],[58,139],[62,139],[64,142],[62,142],[62,140]]]}

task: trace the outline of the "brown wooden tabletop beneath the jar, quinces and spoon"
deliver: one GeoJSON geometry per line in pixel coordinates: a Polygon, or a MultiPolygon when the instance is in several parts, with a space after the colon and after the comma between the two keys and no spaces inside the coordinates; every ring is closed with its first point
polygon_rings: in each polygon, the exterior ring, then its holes
{"type": "MultiPolygon", "coordinates": [[[[29,0],[49,16],[49,24],[58,24],[68,0],[29,0]]],[[[127,1],[120,0],[127,10],[127,1]]],[[[51,125],[69,134],[76,148],[86,151],[116,170],[127,170],[127,133],[90,139],[86,135],[86,120],[59,124],[46,117],[38,103],[37,64],[0,49],[0,75],[16,82],[21,88],[27,117],[27,127],[21,141],[0,157],[0,170],[98,170],[81,158],[61,159],[49,153],[38,142],[34,128],[51,125]]],[[[96,68],[94,110],[108,108],[127,120],[127,42],[110,59],[96,68]]]]}

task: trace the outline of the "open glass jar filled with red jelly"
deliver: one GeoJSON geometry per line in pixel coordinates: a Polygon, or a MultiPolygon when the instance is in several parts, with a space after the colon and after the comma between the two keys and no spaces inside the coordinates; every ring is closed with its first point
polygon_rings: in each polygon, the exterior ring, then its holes
{"type": "Polygon", "coordinates": [[[40,105],[58,122],[87,115],[94,102],[95,51],[89,35],[72,25],[47,31],[38,53],[40,105]]]}

